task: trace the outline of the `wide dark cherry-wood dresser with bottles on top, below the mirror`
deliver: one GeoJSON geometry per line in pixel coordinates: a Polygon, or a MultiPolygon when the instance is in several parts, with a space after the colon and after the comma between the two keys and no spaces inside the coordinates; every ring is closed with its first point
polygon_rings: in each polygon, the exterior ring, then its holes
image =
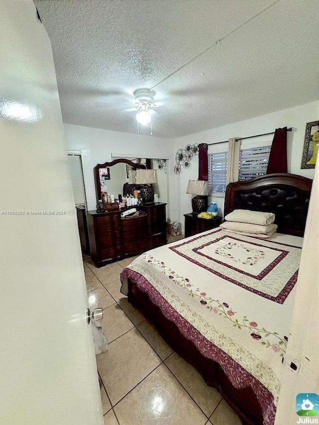
{"type": "Polygon", "coordinates": [[[97,267],[166,244],[166,204],[136,206],[145,215],[121,218],[121,211],[88,211],[91,257],[97,267]]]}

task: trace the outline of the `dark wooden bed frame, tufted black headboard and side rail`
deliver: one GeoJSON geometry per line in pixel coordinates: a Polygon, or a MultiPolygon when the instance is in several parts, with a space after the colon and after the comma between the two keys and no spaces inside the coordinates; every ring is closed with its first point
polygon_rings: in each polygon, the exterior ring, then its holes
{"type": "MultiPolygon", "coordinates": [[[[278,232],[303,236],[312,180],[295,174],[268,174],[253,180],[238,181],[227,186],[225,215],[234,209],[274,212],[278,232]]],[[[128,281],[128,299],[157,327],[163,339],[215,387],[238,414],[244,425],[262,425],[263,415],[256,395],[250,387],[235,388],[221,366],[203,356],[195,344],[183,336],[167,319],[148,294],[128,281]]]]}

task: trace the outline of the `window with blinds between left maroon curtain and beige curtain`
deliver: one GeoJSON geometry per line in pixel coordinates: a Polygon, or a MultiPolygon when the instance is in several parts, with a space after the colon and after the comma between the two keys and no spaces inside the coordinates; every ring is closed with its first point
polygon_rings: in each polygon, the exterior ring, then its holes
{"type": "Polygon", "coordinates": [[[208,153],[208,183],[212,193],[225,193],[228,151],[208,153]]]}

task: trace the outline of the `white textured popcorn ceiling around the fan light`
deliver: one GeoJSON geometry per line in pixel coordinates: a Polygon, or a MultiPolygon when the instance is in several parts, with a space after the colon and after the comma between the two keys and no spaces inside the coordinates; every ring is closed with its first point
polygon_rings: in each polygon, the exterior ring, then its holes
{"type": "Polygon", "coordinates": [[[34,3],[51,39],[65,123],[137,133],[133,92],[201,52],[155,87],[154,135],[184,136],[319,99],[319,1],[34,3]]]}

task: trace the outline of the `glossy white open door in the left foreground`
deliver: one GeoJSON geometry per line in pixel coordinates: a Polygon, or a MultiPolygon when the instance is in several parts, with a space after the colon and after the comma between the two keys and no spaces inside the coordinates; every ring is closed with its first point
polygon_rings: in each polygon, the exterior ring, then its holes
{"type": "Polygon", "coordinates": [[[51,45],[0,1],[0,424],[101,425],[51,45]]]}

